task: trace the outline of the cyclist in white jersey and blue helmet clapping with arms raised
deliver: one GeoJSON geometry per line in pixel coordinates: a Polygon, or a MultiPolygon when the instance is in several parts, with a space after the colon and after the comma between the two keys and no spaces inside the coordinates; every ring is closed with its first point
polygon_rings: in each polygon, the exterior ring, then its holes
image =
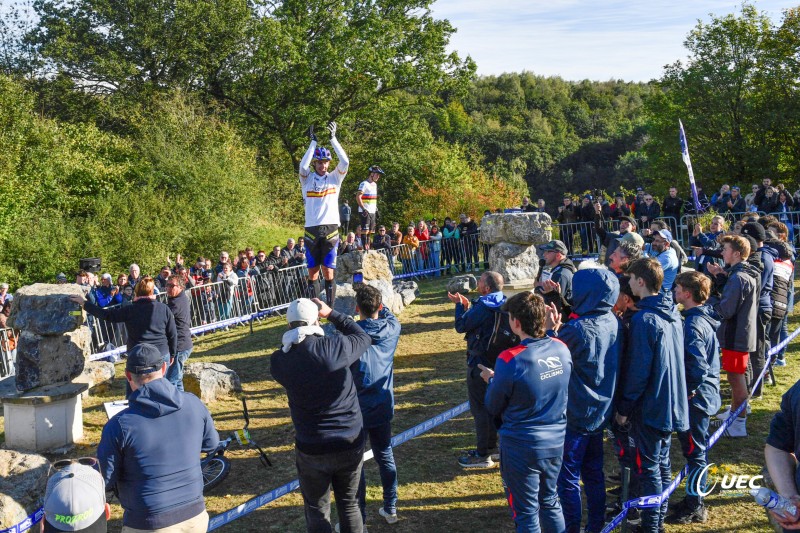
{"type": "Polygon", "coordinates": [[[331,162],[330,151],[317,147],[314,127],[309,128],[311,143],[303,159],[300,160],[300,185],[303,189],[303,202],[306,213],[306,259],[308,261],[308,297],[320,294],[319,271],[325,279],[325,299],[333,307],[336,298],[336,282],[333,280],[336,269],[336,248],[339,244],[339,192],[347,175],[350,161],[347,159],[339,141],[336,140],[336,123],[328,123],[331,132],[331,146],[339,158],[332,172],[328,172],[331,162]],[[311,171],[311,164],[314,170],[311,171]]]}

